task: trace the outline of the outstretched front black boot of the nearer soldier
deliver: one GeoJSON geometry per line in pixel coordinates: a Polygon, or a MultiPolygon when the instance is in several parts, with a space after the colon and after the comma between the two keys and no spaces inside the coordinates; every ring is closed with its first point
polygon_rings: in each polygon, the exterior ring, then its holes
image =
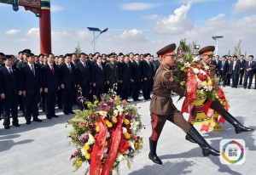
{"type": "Polygon", "coordinates": [[[219,151],[212,149],[212,147],[207,143],[207,141],[203,137],[201,137],[200,133],[197,132],[195,127],[190,127],[189,132],[187,134],[189,135],[190,138],[193,138],[197,144],[200,145],[204,156],[219,155],[219,151]]]}

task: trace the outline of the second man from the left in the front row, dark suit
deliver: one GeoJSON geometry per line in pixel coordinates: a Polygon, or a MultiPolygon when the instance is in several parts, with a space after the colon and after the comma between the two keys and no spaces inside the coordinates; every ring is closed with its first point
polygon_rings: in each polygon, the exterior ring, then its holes
{"type": "Polygon", "coordinates": [[[34,64],[34,60],[34,54],[29,54],[27,64],[20,68],[27,125],[31,123],[32,117],[33,121],[42,121],[38,119],[38,102],[42,91],[41,71],[40,66],[34,64]]]}

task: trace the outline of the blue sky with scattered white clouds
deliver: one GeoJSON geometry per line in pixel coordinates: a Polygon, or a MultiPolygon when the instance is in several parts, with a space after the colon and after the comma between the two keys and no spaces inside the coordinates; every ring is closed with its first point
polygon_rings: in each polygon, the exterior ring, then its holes
{"type": "MultiPolygon", "coordinates": [[[[96,40],[96,51],[143,54],[156,52],[181,39],[216,45],[218,54],[232,54],[241,40],[241,54],[256,56],[255,0],[52,0],[51,40],[55,55],[73,53],[80,46],[94,52],[93,32],[108,28],[96,40]]],[[[30,48],[40,54],[39,19],[23,7],[15,12],[0,3],[0,52],[17,54],[30,48]]],[[[98,35],[99,32],[96,32],[98,35]]]]}

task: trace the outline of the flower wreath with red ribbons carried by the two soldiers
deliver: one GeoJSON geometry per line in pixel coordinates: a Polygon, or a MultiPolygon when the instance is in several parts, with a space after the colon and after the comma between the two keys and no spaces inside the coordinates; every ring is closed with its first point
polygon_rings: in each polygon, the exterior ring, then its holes
{"type": "MultiPolygon", "coordinates": [[[[194,115],[192,109],[195,99],[206,95],[207,103],[203,104],[201,110],[210,118],[212,118],[214,110],[210,109],[213,100],[218,99],[224,106],[225,110],[229,110],[229,104],[225,98],[224,91],[218,86],[218,77],[211,76],[214,65],[202,65],[198,56],[189,53],[178,54],[175,70],[172,71],[175,81],[186,89],[187,94],[183,101],[182,113],[189,113],[189,121],[192,122],[194,115]]],[[[224,118],[218,117],[218,123],[224,124],[224,118]]],[[[210,123],[201,122],[201,130],[208,131],[210,123]]]]}

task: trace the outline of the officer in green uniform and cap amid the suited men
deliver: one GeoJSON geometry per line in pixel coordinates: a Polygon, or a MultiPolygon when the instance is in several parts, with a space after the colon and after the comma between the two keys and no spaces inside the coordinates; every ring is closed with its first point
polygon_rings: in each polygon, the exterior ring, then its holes
{"type": "Polygon", "coordinates": [[[105,65],[105,73],[106,73],[105,77],[106,77],[106,85],[108,86],[108,90],[112,89],[113,84],[117,84],[119,81],[118,65],[116,65],[114,61],[115,61],[115,54],[112,53],[109,55],[109,62],[105,65]]]}

